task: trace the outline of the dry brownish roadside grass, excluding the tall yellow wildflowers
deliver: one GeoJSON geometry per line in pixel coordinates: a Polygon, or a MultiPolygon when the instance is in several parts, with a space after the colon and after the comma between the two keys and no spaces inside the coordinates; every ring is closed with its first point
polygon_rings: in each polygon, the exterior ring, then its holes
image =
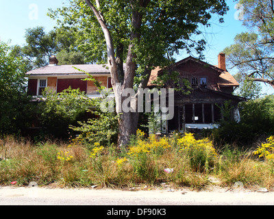
{"type": "Polygon", "coordinates": [[[190,157],[180,152],[176,144],[160,155],[149,154],[138,162],[128,159],[122,165],[117,164],[116,160],[123,156],[112,147],[92,159],[84,146],[68,147],[64,142],[51,140],[35,145],[24,139],[7,137],[0,140],[0,184],[17,181],[17,185],[28,185],[36,181],[39,185],[54,183],[62,187],[125,188],[140,183],[168,183],[174,187],[201,189],[211,185],[209,178],[214,177],[223,187],[231,187],[237,181],[246,188],[271,190],[274,185],[270,164],[253,157],[251,151],[228,149],[228,146],[219,151],[214,166],[204,171],[194,171],[190,157]],[[60,151],[73,158],[58,159],[60,151]],[[167,173],[165,168],[173,168],[173,172],[167,173]]]}

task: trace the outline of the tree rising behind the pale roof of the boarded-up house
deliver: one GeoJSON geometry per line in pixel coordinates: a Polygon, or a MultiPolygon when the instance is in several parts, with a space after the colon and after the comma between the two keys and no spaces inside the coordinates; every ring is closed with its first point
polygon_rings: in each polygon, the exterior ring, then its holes
{"type": "Polygon", "coordinates": [[[27,70],[49,64],[51,55],[56,54],[59,64],[84,64],[84,55],[77,51],[75,37],[67,29],[54,29],[46,33],[44,27],[26,29],[26,44],[15,45],[12,54],[23,57],[27,70]]]}

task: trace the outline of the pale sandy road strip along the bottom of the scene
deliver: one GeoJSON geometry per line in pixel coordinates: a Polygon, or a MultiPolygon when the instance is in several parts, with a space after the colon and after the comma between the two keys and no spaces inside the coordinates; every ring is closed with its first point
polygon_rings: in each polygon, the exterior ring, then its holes
{"type": "Polygon", "coordinates": [[[1,187],[0,205],[274,205],[274,192],[212,187],[141,190],[1,187]]]}

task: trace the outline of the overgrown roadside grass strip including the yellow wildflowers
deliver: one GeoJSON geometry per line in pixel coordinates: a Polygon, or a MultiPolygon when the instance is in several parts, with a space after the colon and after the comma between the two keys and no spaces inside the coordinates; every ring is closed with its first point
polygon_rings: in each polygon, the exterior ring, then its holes
{"type": "Polygon", "coordinates": [[[171,138],[145,138],[139,131],[128,149],[94,144],[48,140],[32,144],[7,137],[0,140],[0,184],[70,187],[129,188],[136,185],[174,188],[187,186],[195,190],[216,184],[231,187],[240,181],[246,188],[274,185],[273,163],[229,145],[215,149],[206,138],[195,140],[174,135],[171,138]]]}

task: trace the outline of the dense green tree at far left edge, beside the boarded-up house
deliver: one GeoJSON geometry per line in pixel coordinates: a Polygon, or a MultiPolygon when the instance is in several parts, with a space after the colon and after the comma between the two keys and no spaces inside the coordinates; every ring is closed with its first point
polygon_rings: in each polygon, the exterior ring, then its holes
{"type": "Polygon", "coordinates": [[[0,135],[21,131],[29,122],[32,106],[27,99],[25,64],[0,41],[0,135]]]}

